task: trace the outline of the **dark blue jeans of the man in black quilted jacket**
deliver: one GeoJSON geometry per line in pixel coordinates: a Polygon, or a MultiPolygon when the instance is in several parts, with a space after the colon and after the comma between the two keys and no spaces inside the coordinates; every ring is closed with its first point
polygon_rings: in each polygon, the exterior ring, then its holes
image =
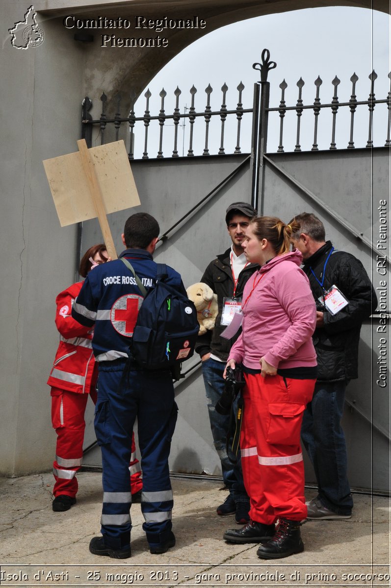
{"type": "Polygon", "coordinates": [[[301,425],[301,440],[314,466],[320,502],[339,515],[350,515],[353,507],[340,424],[346,385],[345,381],[317,382],[301,425]]]}

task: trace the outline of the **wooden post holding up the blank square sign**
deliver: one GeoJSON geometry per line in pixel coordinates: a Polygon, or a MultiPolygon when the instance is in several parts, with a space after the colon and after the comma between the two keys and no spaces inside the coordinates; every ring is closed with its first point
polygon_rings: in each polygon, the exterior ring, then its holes
{"type": "Polygon", "coordinates": [[[79,149],[85,177],[87,178],[88,185],[90,186],[92,199],[94,200],[95,210],[97,211],[97,216],[103,235],[103,240],[105,242],[105,246],[107,249],[107,253],[111,259],[118,259],[117,252],[114,246],[114,241],[111,235],[110,226],[108,224],[106,211],[103,204],[101,187],[97,180],[97,176],[95,175],[94,162],[91,161],[90,153],[88,153],[88,147],[87,143],[85,142],[85,139],[79,139],[79,141],[77,141],[77,146],[79,149]]]}

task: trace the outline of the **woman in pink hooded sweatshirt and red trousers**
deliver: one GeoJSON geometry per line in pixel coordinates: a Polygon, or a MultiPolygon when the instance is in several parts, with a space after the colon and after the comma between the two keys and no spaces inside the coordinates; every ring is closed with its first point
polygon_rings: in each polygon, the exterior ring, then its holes
{"type": "Polygon", "coordinates": [[[251,220],[242,246],[247,261],[261,268],[244,288],[242,333],[227,361],[233,369],[243,364],[246,380],[240,447],[250,521],[228,529],[224,539],[261,543],[261,559],[304,550],[300,428],[316,382],[316,307],[301,253],[290,251],[295,230],[296,223],[277,218],[251,220]]]}

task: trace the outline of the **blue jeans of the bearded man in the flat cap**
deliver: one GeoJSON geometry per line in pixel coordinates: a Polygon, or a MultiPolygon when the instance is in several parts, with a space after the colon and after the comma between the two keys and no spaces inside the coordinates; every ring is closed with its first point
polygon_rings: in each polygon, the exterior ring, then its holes
{"type": "MultiPolygon", "coordinates": [[[[230,495],[235,502],[248,502],[249,499],[244,488],[243,473],[241,471],[240,451],[238,451],[236,464],[231,463],[227,455],[226,446],[230,415],[219,415],[214,408],[224,392],[223,372],[225,367],[225,363],[217,362],[214,359],[207,359],[202,363],[210,428],[214,447],[218,457],[220,457],[224,484],[229,489],[230,495]]],[[[236,409],[236,403],[234,403],[234,409],[236,409]]]]}

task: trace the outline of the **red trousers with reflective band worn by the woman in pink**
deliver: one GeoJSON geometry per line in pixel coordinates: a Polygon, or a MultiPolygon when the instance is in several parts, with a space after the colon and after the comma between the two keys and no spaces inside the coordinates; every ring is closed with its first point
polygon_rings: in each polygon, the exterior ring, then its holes
{"type": "Polygon", "coordinates": [[[316,380],[245,374],[240,447],[250,518],[273,524],[307,516],[301,420],[316,380]]]}

